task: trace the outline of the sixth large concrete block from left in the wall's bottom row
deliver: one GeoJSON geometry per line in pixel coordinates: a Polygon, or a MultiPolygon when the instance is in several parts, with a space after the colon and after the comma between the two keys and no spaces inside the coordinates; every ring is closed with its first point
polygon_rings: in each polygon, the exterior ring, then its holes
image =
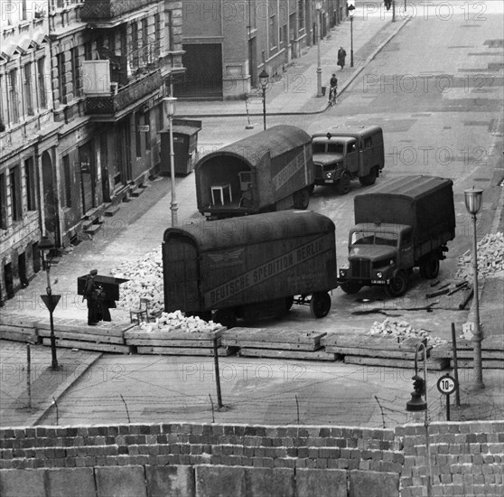
{"type": "MultiPolygon", "coordinates": [[[[247,497],[291,497],[294,495],[294,470],[287,468],[246,468],[247,497]]],[[[198,496],[199,497],[199,496],[198,496]]]]}

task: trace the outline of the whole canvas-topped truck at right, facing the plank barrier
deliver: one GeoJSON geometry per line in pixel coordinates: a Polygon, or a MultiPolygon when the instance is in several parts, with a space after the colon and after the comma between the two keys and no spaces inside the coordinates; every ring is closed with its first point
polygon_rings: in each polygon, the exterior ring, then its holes
{"type": "Polygon", "coordinates": [[[338,281],[347,294],[383,286],[387,295],[406,293],[414,267],[432,279],[455,238],[453,182],[436,176],[399,176],[354,198],[355,226],[349,264],[338,281]]]}

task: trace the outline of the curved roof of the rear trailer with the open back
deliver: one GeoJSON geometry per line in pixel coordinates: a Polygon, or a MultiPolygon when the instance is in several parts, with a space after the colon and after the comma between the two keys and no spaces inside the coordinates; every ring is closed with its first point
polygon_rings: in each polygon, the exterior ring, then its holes
{"type": "Polygon", "coordinates": [[[289,150],[312,142],[312,137],[303,129],[294,126],[279,125],[261,131],[257,135],[247,136],[231,145],[224,146],[209,155],[205,155],[196,167],[202,167],[212,157],[219,155],[233,155],[243,160],[249,167],[257,167],[261,157],[269,152],[273,159],[289,150]]]}

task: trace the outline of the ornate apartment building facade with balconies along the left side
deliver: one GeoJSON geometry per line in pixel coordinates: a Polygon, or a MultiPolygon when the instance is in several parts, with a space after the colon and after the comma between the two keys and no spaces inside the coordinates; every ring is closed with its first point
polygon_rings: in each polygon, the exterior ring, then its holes
{"type": "Polygon", "coordinates": [[[160,162],[182,2],[8,0],[0,19],[0,303],[160,162]]]}

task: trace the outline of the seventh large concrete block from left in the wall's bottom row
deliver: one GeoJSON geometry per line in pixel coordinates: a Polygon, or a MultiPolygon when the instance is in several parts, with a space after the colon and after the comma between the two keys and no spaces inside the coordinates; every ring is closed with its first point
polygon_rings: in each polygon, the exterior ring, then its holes
{"type": "MultiPolygon", "coordinates": [[[[298,468],[295,474],[295,489],[295,495],[347,497],[347,472],[342,469],[298,468]]],[[[369,492],[367,495],[369,497],[369,492]]]]}

